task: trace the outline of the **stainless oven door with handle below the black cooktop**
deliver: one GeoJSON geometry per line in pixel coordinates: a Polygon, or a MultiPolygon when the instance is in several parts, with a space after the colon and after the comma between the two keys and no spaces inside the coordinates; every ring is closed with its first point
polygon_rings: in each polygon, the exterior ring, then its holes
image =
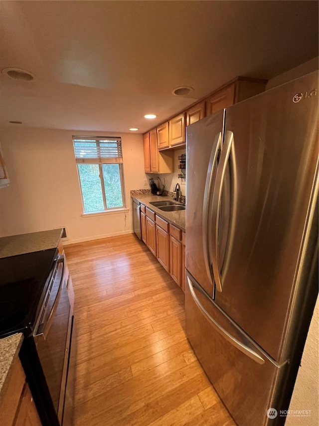
{"type": "Polygon", "coordinates": [[[66,386],[66,353],[70,340],[70,302],[59,256],[34,333],[34,342],[54,409],[62,424],[66,386]]]}

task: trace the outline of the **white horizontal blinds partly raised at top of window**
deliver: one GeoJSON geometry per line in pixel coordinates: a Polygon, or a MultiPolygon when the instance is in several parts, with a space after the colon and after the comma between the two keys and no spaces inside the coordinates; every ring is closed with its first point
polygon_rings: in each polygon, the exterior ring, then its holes
{"type": "Polygon", "coordinates": [[[73,136],[77,163],[123,163],[120,137],[73,136]]]}

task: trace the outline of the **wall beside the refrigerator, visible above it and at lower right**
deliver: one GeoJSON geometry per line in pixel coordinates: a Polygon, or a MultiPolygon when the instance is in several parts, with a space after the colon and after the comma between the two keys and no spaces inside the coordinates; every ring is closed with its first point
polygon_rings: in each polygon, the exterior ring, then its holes
{"type": "MultiPolygon", "coordinates": [[[[318,69],[318,57],[311,59],[268,81],[266,89],[271,89],[295,78],[318,69]]],[[[298,372],[286,426],[319,425],[319,299],[309,328],[303,353],[301,367],[298,372]],[[311,417],[298,417],[294,410],[311,410],[311,417]]]]}

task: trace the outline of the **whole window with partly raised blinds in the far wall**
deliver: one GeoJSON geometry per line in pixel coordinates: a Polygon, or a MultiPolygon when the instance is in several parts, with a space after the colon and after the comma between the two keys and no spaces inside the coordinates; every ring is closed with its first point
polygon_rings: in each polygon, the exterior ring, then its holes
{"type": "Polygon", "coordinates": [[[84,213],[124,208],[120,137],[73,136],[84,213]]]}

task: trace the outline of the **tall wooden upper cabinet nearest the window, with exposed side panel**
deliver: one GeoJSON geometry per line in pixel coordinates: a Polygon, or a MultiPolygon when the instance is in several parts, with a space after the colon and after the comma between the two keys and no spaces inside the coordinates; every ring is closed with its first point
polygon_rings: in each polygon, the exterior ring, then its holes
{"type": "Polygon", "coordinates": [[[172,173],[174,170],[173,153],[158,151],[157,129],[145,133],[143,142],[145,173],[172,173]]]}

